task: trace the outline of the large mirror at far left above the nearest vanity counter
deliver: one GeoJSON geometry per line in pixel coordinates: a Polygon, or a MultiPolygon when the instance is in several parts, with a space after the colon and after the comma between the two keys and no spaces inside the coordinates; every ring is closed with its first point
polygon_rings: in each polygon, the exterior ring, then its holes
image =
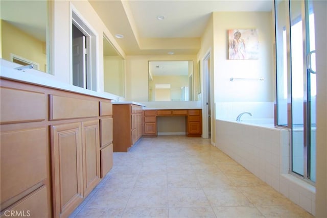
{"type": "Polygon", "coordinates": [[[48,1],[0,1],[1,58],[48,72],[48,1]]]}

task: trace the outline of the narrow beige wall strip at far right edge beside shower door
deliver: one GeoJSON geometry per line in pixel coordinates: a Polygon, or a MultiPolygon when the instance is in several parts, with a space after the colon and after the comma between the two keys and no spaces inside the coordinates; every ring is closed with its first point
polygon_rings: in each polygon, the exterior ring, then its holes
{"type": "Polygon", "coordinates": [[[316,216],[327,217],[327,2],[313,1],[317,66],[316,216]]]}

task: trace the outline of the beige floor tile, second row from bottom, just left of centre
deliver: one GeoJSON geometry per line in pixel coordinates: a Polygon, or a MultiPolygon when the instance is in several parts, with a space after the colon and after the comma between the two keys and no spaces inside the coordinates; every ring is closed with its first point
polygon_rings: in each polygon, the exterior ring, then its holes
{"type": "Polygon", "coordinates": [[[167,207],[168,195],[167,188],[134,188],[128,203],[127,208],[156,208],[167,207]]]}

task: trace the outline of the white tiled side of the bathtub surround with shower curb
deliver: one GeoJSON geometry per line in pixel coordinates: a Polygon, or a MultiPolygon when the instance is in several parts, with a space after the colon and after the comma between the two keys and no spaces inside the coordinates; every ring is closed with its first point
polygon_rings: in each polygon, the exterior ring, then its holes
{"type": "Polygon", "coordinates": [[[289,131],[216,120],[216,147],[295,204],[315,213],[315,187],[288,174],[289,131]]]}

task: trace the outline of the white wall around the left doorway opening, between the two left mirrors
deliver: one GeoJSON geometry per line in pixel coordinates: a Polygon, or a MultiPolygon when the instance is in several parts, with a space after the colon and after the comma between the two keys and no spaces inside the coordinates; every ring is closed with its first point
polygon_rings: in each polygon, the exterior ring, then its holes
{"type": "MultiPolygon", "coordinates": [[[[50,73],[57,80],[71,84],[71,11],[74,9],[74,12],[96,35],[97,91],[103,92],[103,33],[123,57],[125,53],[88,1],[51,1],[50,4],[52,10],[50,25],[52,69],[50,73]]],[[[115,95],[112,94],[112,98],[115,99],[115,95]]]]}

